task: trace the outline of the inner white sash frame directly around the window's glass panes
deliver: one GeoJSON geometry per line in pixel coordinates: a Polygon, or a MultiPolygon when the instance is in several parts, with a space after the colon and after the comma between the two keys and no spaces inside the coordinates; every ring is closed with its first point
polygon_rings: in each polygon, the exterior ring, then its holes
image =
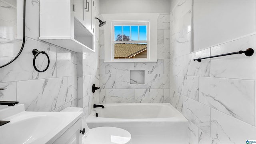
{"type": "MultiPolygon", "coordinates": [[[[150,55],[150,21],[112,21],[112,32],[111,32],[111,49],[112,49],[112,56],[115,55],[115,43],[146,43],[147,44],[147,58],[139,58],[140,61],[149,61],[149,55],[150,55]],[[115,41],[115,32],[114,32],[114,26],[140,26],[144,25],[146,26],[146,40],[129,40],[129,41],[115,41]]],[[[138,30],[138,38],[139,38],[139,30],[138,30]]],[[[122,34],[123,35],[123,34],[122,34]]],[[[130,31],[131,35],[131,31],[130,31]]],[[[138,59],[138,58],[135,58],[138,59]]],[[[130,60],[124,60],[124,59],[115,59],[113,58],[113,62],[120,62],[120,61],[128,61],[130,60]]]]}

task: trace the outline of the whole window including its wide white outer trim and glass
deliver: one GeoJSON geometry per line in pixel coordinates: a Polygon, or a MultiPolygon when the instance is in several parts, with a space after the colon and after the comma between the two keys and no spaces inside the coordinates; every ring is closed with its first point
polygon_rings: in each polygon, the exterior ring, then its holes
{"type": "Polygon", "coordinates": [[[159,13],[102,14],[102,19],[107,22],[103,27],[104,62],[157,62],[158,17],[159,13]],[[122,49],[122,46],[135,50],[128,58],[127,55],[115,56],[115,50],[122,49]],[[143,57],[138,57],[143,54],[143,57]]]}

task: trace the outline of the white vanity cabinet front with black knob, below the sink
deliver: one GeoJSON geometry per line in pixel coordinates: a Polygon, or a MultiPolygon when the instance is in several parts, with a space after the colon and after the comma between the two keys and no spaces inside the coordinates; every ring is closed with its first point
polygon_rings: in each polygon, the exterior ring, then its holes
{"type": "Polygon", "coordinates": [[[64,134],[62,134],[53,144],[82,144],[82,118],[74,123],[64,134]]]}

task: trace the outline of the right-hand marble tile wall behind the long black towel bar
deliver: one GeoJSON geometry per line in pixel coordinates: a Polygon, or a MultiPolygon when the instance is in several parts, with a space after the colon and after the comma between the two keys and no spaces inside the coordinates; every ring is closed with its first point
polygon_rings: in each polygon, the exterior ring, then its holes
{"type": "Polygon", "coordinates": [[[247,48],[255,51],[255,32],[191,52],[192,4],[180,0],[170,14],[170,104],[188,119],[190,144],[255,140],[256,54],[193,61],[247,48]]]}

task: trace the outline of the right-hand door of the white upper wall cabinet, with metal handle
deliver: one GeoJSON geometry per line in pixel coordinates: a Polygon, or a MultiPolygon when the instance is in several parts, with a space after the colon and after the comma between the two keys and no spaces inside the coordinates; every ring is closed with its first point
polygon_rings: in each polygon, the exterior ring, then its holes
{"type": "Polygon", "coordinates": [[[86,28],[93,33],[93,22],[94,22],[94,1],[86,0],[87,7],[85,9],[85,26],[86,28]]]}

